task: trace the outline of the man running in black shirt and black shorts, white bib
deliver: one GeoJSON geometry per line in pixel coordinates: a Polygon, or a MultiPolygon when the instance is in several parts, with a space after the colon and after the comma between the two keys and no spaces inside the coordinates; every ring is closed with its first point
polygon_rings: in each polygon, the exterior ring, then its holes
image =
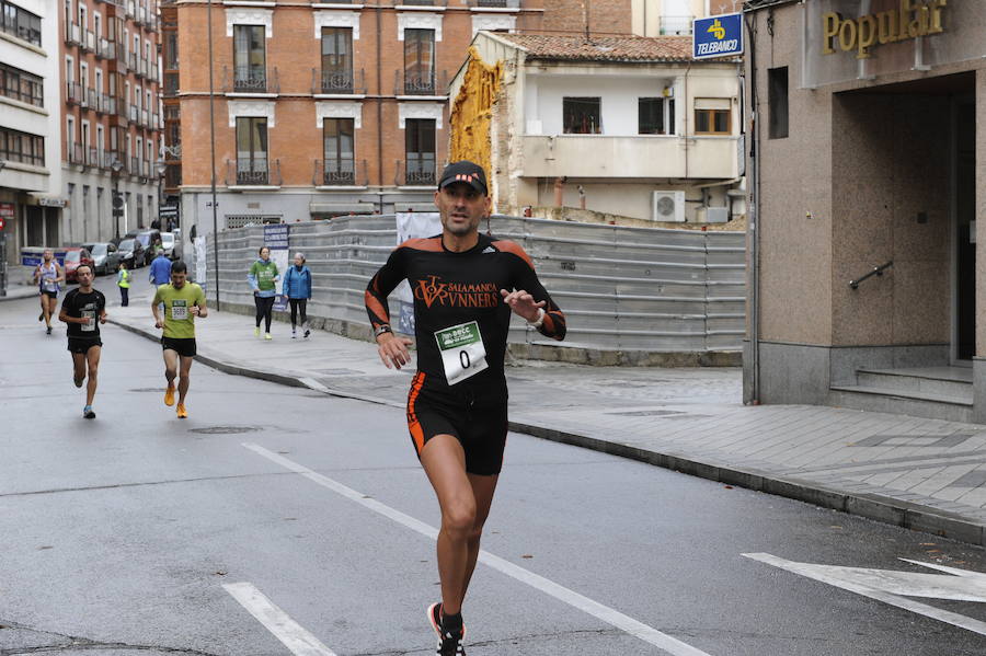
{"type": "Polygon", "coordinates": [[[100,355],[103,352],[100,323],[106,323],[106,297],[102,291],[92,288],[91,266],[79,265],[76,276],[79,279],[79,287],[65,295],[58,320],[68,324],[66,332],[69,337],[69,353],[72,354],[72,381],[77,388],[81,388],[82,381],[87,379],[88,366],[89,382],[85,385],[85,407],[82,408],[82,416],[94,419],[92,401],[95,399],[95,389],[99,384],[96,377],[100,355]]]}

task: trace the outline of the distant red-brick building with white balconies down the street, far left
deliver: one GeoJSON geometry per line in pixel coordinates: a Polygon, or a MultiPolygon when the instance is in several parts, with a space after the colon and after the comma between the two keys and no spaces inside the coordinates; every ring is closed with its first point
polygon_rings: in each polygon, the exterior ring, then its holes
{"type": "Polygon", "coordinates": [[[105,241],[158,214],[157,3],[64,0],[59,21],[61,172],[51,193],[65,200],[60,241],[105,241]]]}

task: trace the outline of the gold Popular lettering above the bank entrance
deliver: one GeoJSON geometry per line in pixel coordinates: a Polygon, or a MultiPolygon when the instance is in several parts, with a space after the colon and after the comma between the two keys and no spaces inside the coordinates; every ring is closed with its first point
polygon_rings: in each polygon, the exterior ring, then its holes
{"type": "Polygon", "coordinates": [[[858,19],[844,19],[835,12],[822,15],[823,55],[836,48],[856,50],[857,59],[870,57],[870,49],[880,44],[929,36],[944,32],[941,12],[949,0],[901,0],[898,9],[881,11],[858,19]]]}

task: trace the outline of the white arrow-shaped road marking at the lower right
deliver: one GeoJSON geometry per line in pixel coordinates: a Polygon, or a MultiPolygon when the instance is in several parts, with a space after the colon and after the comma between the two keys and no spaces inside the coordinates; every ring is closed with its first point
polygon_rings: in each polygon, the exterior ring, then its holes
{"type": "MultiPolygon", "coordinates": [[[[781,569],[787,569],[788,572],[793,572],[794,574],[800,574],[806,578],[812,578],[837,588],[842,588],[844,590],[849,590],[850,592],[856,592],[857,595],[862,595],[863,597],[876,599],[878,601],[883,601],[884,603],[922,614],[932,620],[938,620],[940,622],[945,622],[947,624],[952,624],[953,626],[959,626],[960,629],[965,629],[966,631],[972,631],[973,633],[986,635],[986,622],[981,622],[979,620],[960,615],[955,612],[935,608],[933,606],[914,601],[913,599],[903,596],[909,595],[914,597],[986,601],[978,591],[973,591],[971,595],[958,596],[956,585],[961,587],[963,584],[958,583],[960,579],[955,577],[941,576],[939,574],[915,574],[886,569],[833,567],[829,565],[815,565],[812,563],[796,563],[794,561],[786,561],[784,559],[780,559],[769,553],[744,553],[743,555],[781,569]],[[936,579],[952,580],[950,583],[943,580],[929,582],[926,578],[929,576],[935,577],[936,579]],[[888,591],[887,588],[893,591],[888,591]]],[[[915,561],[908,562],[914,563],[915,561]]],[[[936,569],[956,572],[952,567],[943,567],[941,565],[930,565],[928,563],[917,564],[926,567],[933,567],[936,569]]],[[[975,587],[970,589],[982,590],[982,584],[976,580],[977,576],[983,576],[982,574],[966,572],[964,569],[958,572],[963,572],[964,576],[972,575],[972,580],[970,583],[975,587]]]]}

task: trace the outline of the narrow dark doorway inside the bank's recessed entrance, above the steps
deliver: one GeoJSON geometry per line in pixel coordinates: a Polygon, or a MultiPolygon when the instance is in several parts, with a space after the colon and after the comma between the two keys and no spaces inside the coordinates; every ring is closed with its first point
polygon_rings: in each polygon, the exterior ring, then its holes
{"type": "Polygon", "coordinates": [[[976,354],[976,103],[955,101],[955,359],[976,354]]]}

